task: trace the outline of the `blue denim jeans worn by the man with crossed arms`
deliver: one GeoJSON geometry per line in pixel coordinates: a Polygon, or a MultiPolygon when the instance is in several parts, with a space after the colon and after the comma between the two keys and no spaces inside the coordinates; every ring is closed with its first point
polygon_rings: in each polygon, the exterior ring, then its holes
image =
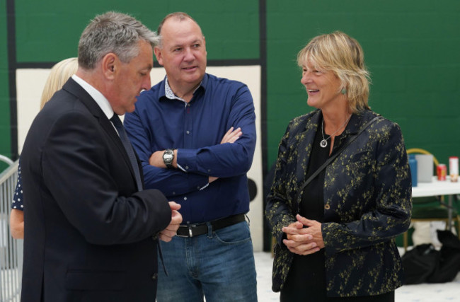
{"type": "MultiPolygon", "coordinates": [[[[208,229],[209,225],[208,225],[208,229]]],[[[246,221],[192,237],[161,242],[168,277],[159,262],[158,302],[255,302],[257,282],[246,221]]],[[[159,260],[161,261],[161,260],[159,260]]]]}

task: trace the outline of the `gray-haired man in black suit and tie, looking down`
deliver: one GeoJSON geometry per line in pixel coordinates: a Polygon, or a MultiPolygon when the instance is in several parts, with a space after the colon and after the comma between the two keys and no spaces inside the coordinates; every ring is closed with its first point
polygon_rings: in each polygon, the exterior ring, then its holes
{"type": "Polygon", "coordinates": [[[150,88],[156,40],[130,16],[96,16],[80,38],[78,71],[30,127],[22,301],[155,300],[159,238],[176,235],[180,206],[142,190],[117,115],[150,88]]]}

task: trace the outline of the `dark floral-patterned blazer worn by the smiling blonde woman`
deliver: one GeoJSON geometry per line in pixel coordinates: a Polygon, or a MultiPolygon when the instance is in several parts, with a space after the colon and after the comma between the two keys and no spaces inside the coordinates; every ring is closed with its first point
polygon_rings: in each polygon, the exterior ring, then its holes
{"type": "MultiPolygon", "coordinates": [[[[377,114],[353,114],[343,135],[347,140],[377,114]]],[[[280,291],[294,254],[282,243],[281,228],[296,221],[296,196],[306,180],[311,144],[321,111],[289,123],[280,142],[275,179],[266,216],[275,245],[273,291],[280,291]]],[[[373,296],[403,284],[395,237],[407,230],[412,210],[412,184],[406,147],[398,124],[381,118],[326,168],[324,223],[328,296],[373,296]]],[[[284,237],[285,238],[285,237],[284,237]]]]}

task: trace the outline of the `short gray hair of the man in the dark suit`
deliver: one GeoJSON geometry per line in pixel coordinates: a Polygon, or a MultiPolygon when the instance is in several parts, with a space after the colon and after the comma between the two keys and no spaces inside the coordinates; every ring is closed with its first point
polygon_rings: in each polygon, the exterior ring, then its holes
{"type": "Polygon", "coordinates": [[[114,11],[98,15],[81,33],[79,66],[94,69],[110,52],[121,62],[129,63],[139,54],[140,40],[149,42],[152,48],[159,43],[158,35],[132,16],[114,11]]]}

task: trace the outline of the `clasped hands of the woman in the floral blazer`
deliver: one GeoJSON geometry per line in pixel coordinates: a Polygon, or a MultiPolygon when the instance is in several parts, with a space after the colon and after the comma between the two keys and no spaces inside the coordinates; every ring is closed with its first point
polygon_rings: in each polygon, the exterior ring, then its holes
{"type": "Polygon", "coordinates": [[[283,240],[289,251],[297,255],[309,255],[324,248],[321,223],[316,220],[306,219],[297,214],[297,221],[284,226],[282,231],[287,239],[283,240]],[[307,228],[304,228],[307,226],[307,228]]]}

